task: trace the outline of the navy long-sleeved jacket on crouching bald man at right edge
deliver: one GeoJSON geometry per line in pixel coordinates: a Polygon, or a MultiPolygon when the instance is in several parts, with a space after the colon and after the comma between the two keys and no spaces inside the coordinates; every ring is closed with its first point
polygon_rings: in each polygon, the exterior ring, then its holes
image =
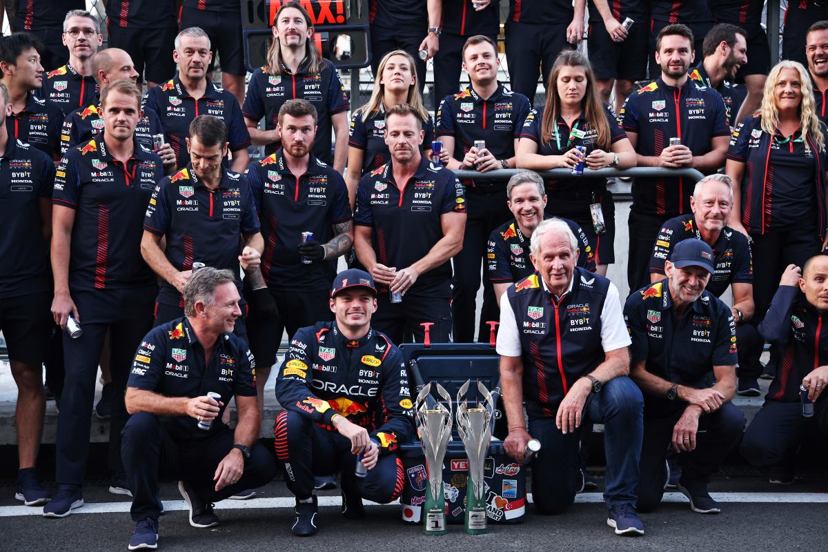
{"type": "MultiPolygon", "coordinates": [[[[766,400],[800,401],[802,378],[824,366],[828,359],[828,331],[822,327],[823,322],[828,322],[826,315],[814,309],[797,286],[779,286],[758,327],[768,343],[785,351],[766,400]]],[[[823,394],[817,401],[825,397],[823,394]]]]}

